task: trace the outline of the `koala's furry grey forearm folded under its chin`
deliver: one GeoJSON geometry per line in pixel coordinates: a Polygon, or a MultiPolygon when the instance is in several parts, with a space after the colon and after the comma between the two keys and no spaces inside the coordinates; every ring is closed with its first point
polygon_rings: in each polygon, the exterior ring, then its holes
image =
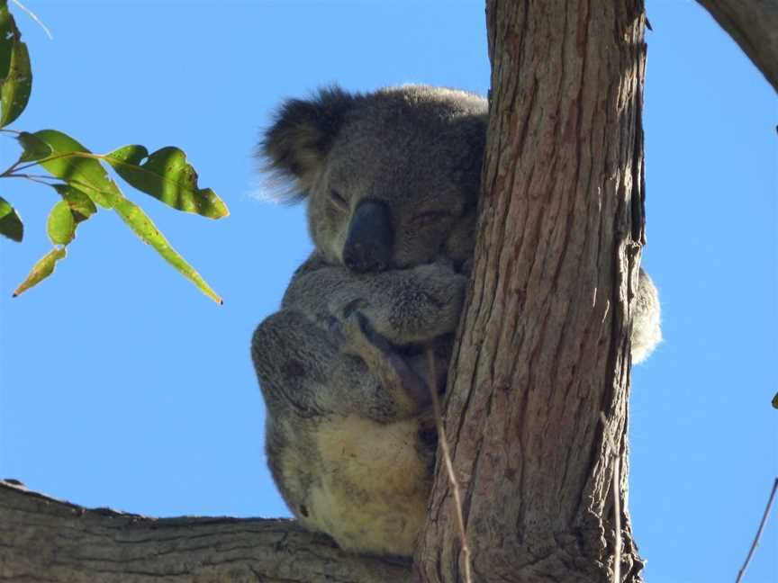
{"type": "Polygon", "coordinates": [[[294,274],[283,305],[330,327],[356,312],[393,345],[424,344],[456,331],[467,278],[447,265],[354,274],[315,254],[294,274]]]}

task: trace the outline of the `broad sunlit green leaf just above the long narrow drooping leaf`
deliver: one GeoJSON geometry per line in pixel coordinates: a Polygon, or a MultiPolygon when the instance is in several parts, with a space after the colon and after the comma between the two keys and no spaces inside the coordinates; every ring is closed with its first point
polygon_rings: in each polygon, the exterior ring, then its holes
{"type": "Polygon", "coordinates": [[[75,139],[58,130],[41,130],[32,135],[51,148],[51,156],[42,159],[40,164],[52,175],[83,191],[106,209],[112,209],[124,199],[95,155],[75,139]]]}

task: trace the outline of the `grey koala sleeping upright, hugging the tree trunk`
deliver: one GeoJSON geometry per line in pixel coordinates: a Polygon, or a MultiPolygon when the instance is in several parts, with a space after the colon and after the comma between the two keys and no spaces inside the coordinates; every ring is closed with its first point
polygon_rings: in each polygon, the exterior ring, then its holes
{"type": "MultiPolygon", "coordinates": [[[[314,243],[252,338],[268,464],[294,516],[348,551],[411,556],[424,520],[486,118],[464,91],[331,87],[286,101],[259,147],[314,243]]],[[[661,337],[642,270],[636,305],[633,362],[661,337]]]]}

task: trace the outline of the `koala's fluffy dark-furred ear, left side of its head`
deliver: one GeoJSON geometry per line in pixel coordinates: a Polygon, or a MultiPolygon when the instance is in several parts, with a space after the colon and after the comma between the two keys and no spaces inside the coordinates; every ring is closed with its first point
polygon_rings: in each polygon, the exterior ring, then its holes
{"type": "Polygon", "coordinates": [[[292,188],[285,190],[299,199],[308,194],[333,140],[358,95],[338,86],[320,89],[312,99],[289,99],[281,105],[272,126],[258,145],[264,169],[292,188]]]}

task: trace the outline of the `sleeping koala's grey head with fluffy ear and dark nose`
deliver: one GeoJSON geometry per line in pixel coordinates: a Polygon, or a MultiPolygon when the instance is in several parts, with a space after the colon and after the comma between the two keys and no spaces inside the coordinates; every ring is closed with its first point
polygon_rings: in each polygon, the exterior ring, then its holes
{"type": "Polygon", "coordinates": [[[472,255],[486,102],[426,85],[334,87],[279,110],[259,153],[308,199],[324,258],[356,272],[472,255]]]}

